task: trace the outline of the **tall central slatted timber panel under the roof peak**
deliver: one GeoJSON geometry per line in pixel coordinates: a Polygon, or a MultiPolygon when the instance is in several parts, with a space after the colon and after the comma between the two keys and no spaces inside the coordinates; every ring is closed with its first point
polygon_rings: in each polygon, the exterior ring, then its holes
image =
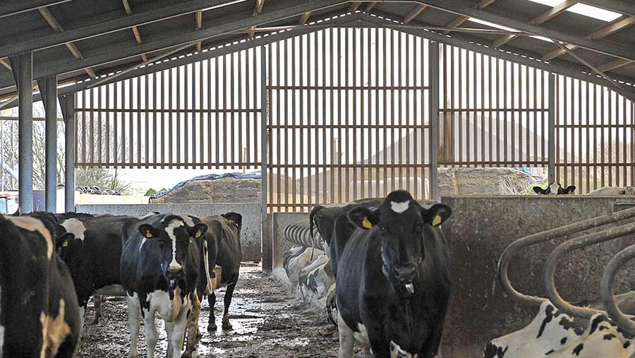
{"type": "Polygon", "coordinates": [[[270,211],[428,198],[428,40],[329,28],[270,48],[270,211]]]}

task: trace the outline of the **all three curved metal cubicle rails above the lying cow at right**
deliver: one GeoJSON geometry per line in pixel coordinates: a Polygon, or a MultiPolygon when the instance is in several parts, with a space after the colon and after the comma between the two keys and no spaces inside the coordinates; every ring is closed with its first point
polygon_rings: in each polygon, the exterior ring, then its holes
{"type": "Polygon", "coordinates": [[[615,321],[619,323],[619,326],[626,330],[629,330],[631,333],[635,333],[635,323],[630,321],[631,316],[624,315],[622,311],[619,310],[619,307],[617,307],[617,303],[615,302],[615,297],[613,297],[612,291],[613,284],[615,283],[615,275],[619,271],[619,268],[621,268],[622,265],[624,265],[631,258],[635,258],[635,245],[630,246],[627,249],[624,249],[617,253],[617,255],[612,258],[610,263],[607,265],[607,268],[605,269],[600,285],[600,297],[602,298],[603,304],[607,308],[608,312],[598,309],[583,308],[569,304],[569,302],[566,302],[564,301],[564,299],[562,299],[560,294],[557,292],[554,283],[557,262],[564,255],[564,253],[568,253],[576,249],[581,249],[586,246],[600,244],[601,242],[611,239],[624,237],[628,234],[633,234],[635,233],[635,223],[629,223],[617,227],[609,227],[607,229],[603,229],[600,232],[594,232],[592,234],[586,234],[581,237],[575,237],[573,239],[564,241],[564,243],[557,246],[556,249],[550,254],[548,261],[545,263],[545,286],[547,288],[548,298],[536,297],[519,292],[514,288],[512,282],[509,281],[508,275],[509,263],[511,263],[512,258],[514,258],[516,253],[521,251],[521,249],[526,249],[529,246],[540,244],[551,239],[557,239],[559,237],[563,237],[564,235],[576,234],[586,229],[602,227],[608,224],[617,224],[622,220],[627,220],[632,217],[635,217],[635,208],[629,208],[626,210],[618,211],[616,213],[593,217],[591,219],[581,222],[575,222],[563,227],[557,227],[555,229],[550,229],[544,232],[538,232],[536,234],[532,234],[514,241],[512,244],[507,246],[500,257],[500,260],[498,261],[498,278],[503,290],[507,292],[507,294],[509,294],[512,299],[516,299],[517,301],[525,304],[540,304],[542,302],[545,302],[546,300],[550,300],[550,302],[552,302],[554,306],[571,316],[591,318],[593,314],[607,314],[611,318],[615,319],[615,321]]]}

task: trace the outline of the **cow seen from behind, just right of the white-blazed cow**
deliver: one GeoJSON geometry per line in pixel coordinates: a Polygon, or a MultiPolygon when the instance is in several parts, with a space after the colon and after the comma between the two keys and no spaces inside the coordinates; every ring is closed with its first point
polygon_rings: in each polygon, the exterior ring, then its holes
{"type": "MultiPolygon", "coordinates": [[[[200,275],[198,279],[198,296],[207,295],[207,302],[210,304],[210,321],[207,331],[212,333],[217,330],[216,317],[214,316],[214,305],[216,304],[216,294],[220,287],[227,287],[224,295],[224,314],[222,318],[222,329],[231,330],[229,322],[229,306],[231,297],[234,296],[234,289],[238,283],[240,274],[242,251],[241,251],[241,227],[243,217],[238,213],[226,213],[222,215],[210,215],[203,217],[201,222],[207,225],[205,241],[202,242],[202,251],[208,260],[207,271],[209,275],[200,275]],[[209,280],[209,281],[208,281],[209,280]]],[[[205,258],[202,258],[205,260],[205,258]]],[[[205,263],[201,270],[205,270],[205,263]]],[[[195,350],[195,340],[193,338],[200,335],[198,328],[198,318],[200,316],[200,302],[194,306],[192,314],[188,320],[188,347],[183,357],[191,357],[195,350]]]]}

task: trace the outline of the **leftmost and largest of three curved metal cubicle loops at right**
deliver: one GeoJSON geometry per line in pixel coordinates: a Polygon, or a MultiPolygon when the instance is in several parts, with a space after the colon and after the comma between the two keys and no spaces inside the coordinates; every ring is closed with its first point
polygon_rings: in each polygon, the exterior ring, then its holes
{"type": "Polygon", "coordinates": [[[509,282],[509,275],[507,273],[507,270],[509,269],[509,263],[512,261],[512,258],[514,258],[519,250],[524,249],[528,246],[540,244],[541,242],[545,242],[551,239],[556,239],[557,237],[562,237],[567,234],[574,234],[576,232],[581,232],[593,227],[600,227],[603,225],[619,222],[630,217],[635,217],[635,208],[621,210],[617,213],[593,217],[591,219],[581,222],[575,222],[563,227],[557,227],[548,231],[538,232],[536,234],[532,234],[514,241],[512,244],[507,246],[507,249],[503,251],[498,261],[498,280],[500,281],[503,290],[507,292],[507,294],[509,294],[509,296],[513,299],[516,299],[519,302],[523,302],[525,304],[540,304],[544,302],[546,300],[545,297],[536,297],[528,294],[523,294],[516,290],[514,286],[512,286],[512,282],[509,282]]]}

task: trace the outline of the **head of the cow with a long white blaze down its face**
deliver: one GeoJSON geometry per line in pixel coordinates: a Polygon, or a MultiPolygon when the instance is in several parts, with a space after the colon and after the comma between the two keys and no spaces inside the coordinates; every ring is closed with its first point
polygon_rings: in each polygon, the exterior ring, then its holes
{"type": "Polygon", "coordinates": [[[191,239],[202,237],[206,231],[207,225],[199,222],[191,227],[177,215],[164,216],[152,225],[139,225],[139,232],[143,236],[142,249],[146,241],[157,241],[159,265],[170,290],[174,290],[185,278],[184,268],[188,265],[191,239]]]}

